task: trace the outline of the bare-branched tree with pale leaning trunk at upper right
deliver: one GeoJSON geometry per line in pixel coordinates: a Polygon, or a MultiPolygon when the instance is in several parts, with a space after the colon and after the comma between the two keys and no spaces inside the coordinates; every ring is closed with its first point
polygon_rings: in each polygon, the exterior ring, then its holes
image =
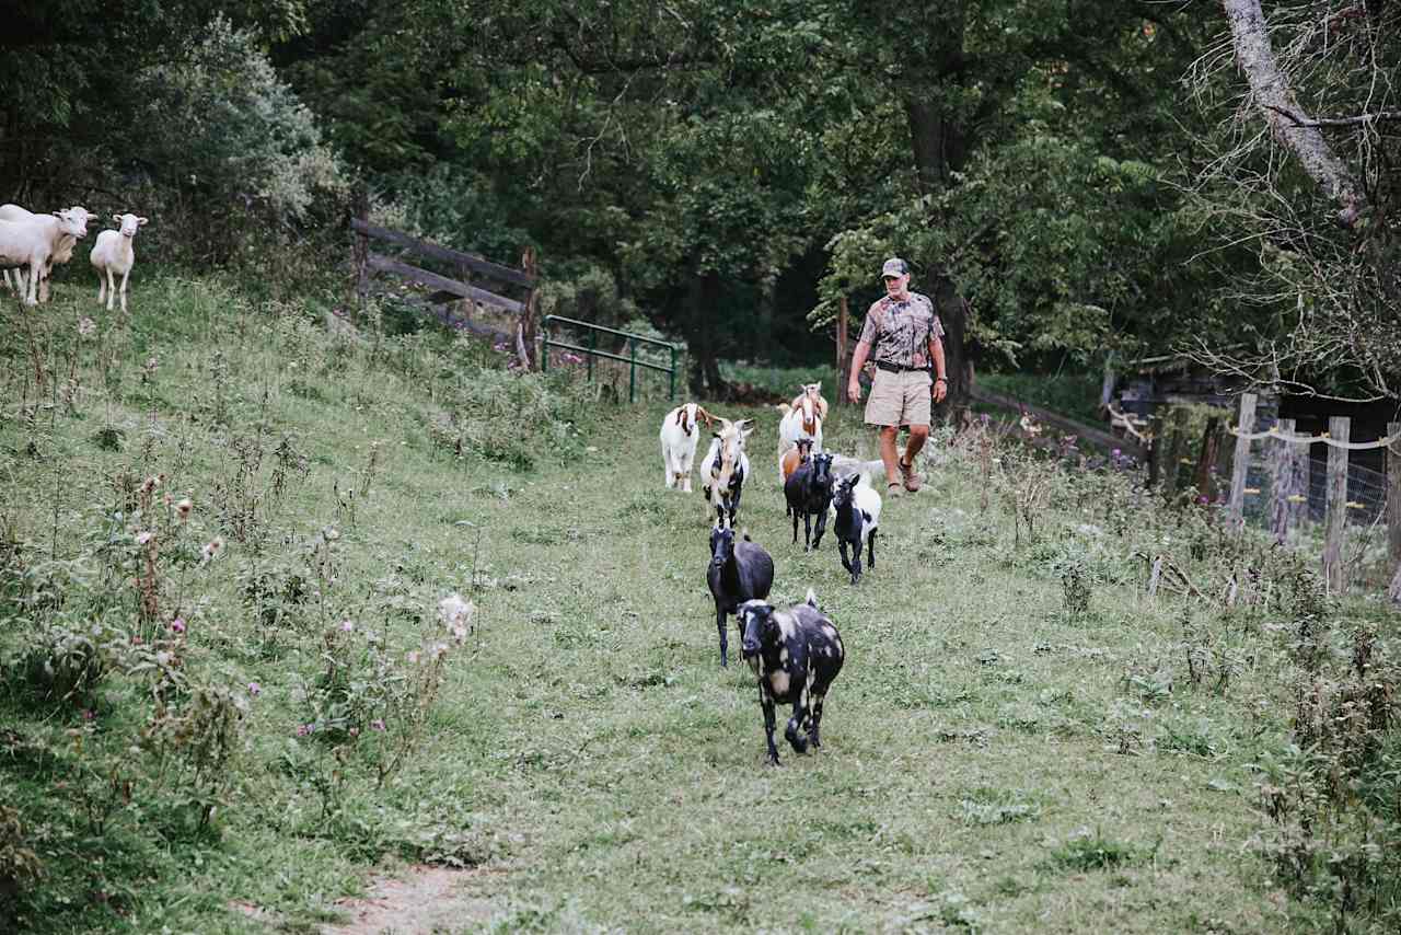
{"type": "Polygon", "coordinates": [[[1257,254],[1227,294],[1254,314],[1244,341],[1201,342],[1198,357],[1296,393],[1401,398],[1401,10],[1374,0],[1272,4],[1268,17],[1254,0],[1223,8],[1247,91],[1237,107],[1220,56],[1194,76],[1206,112],[1230,116],[1202,140],[1196,196],[1222,243],[1257,254]]]}

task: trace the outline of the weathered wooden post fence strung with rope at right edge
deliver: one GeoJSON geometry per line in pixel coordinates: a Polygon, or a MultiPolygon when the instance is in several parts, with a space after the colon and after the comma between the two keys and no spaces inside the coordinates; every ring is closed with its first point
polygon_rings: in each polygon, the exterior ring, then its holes
{"type": "Polygon", "coordinates": [[[1240,421],[1231,428],[1236,436],[1236,458],[1231,468],[1230,499],[1227,514],[1237,526],[1244,524],[1247,495],[1259,491],[1247,486],[1250,451],[1254,442],[1264,440],[1269,446],[1269,530],[1275,540],[1285,542],[1289,530],[1304,516],[1309,492],[1309,447],[1328,446],[1328,475],[1324,484],[1324,552],[1323,572],[1331,593],[1342,593],[1348,586],[1348,569],[1344,561],[1344,531],[1349,509],[1358,503],[1348,499],[1348,453],[1367,449],[1386,449],[1386,523],[1387,554],[1391,559],[1397,582],[1401,582],[1401,422],[1387,425],[1384,437],[1374,442],[1353,442],[1352,421],[1346,416],[1328,419],[1325,435],[1297,435],[1293,419],[1279,419],[1272,428],[1255,432],[1254,393],[1240,397],[1240,421]]]}

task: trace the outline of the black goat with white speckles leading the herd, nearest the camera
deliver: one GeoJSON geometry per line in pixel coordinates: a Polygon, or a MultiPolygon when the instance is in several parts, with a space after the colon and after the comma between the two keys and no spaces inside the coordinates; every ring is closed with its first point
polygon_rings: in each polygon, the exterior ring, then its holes
{"type": "Polygon", "coordinates": [[[793,705],[783,736],[794,751],[806,753],[808,742],[821,747],[822,701],[842,670],[846,648],[836,627],[817,608],[813,589],[804,603],[789,610],[776,610],[762,600],[744,601],[737,617],[744,631],[741,653],[759,678],[769,763],[779,765],[773,744],[775,704],[793,705]]]}

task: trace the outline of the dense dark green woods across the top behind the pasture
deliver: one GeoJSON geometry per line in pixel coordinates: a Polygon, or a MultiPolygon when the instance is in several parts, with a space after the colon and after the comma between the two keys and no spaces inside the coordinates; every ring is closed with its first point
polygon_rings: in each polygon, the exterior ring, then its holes
{"type": "Polygon", "coordinates": [[[831,359],[839,300],[859,321],[891,254],[940,306],[957,398],[972,359],[1170,348],[1247,384],[1397,395],[1401,8],[1383,0],[7,17],[0,198],[151,216],[157,262],[345,273],[367,191],[385,227],[506,262],[534,248],[545,313],[684,341],[710,397],[726,359],[831,359]]]}

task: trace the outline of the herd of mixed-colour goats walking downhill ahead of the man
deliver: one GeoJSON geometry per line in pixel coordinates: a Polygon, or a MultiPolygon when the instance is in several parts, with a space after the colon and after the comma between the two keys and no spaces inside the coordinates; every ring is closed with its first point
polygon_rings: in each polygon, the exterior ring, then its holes
{"type": "MultiPolygon", "coordinates": [[[[779,481],[793,519],[793,544],[803,521],[803,550],[822,544],[828,513],[832,513],[842,568],[860,582],[862,551],[876,568],[876,530],[881,498],[871,488],[862,463],[822,450],[822,419],[827,401],[820,384],[806,384],[790,405],[780,405],[779,481]],[[848,548],[852,557],[848,558],[848,548]]],[[[668,488],[691,492],[700,423],[712,429],[710,449],[700,461],[700,484],[706,516],[715,510],[710,530],[710,565],[706,582],[715,597],[716,629],[720,634],[720,664],[729,664],[726,621],[736,617],[741,629],[741,653],[754,669],[764,708],[764,730],[769,761],[779,763],[773,744],[773,709],[792,704],[783,736],[797,753],[808,743],[821,746],[822,701],[842,670],[846,649],[832,621],[817,607],[811,589],[801,604],[780,610],[768,603],[773,586],[773,558],[748,534],[736,537],[740,495],[750,477],[744,440],[754,432],[754,419],[730,421],[712,416],[693,402],[667,414],[661,423],[661,460],[668,488]]]]}

